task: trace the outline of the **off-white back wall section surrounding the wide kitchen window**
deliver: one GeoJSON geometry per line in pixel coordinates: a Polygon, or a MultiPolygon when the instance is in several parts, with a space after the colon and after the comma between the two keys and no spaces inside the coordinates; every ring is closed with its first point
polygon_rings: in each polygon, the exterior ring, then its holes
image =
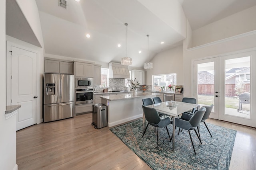
{"type": "Polygon", "coordinates": [[[183,46],[158,53],[150,62],[153,68],[147,71],[147,83],[152,85],[152,75],[177,73],[177,84],[183,84],[183,46]]]}

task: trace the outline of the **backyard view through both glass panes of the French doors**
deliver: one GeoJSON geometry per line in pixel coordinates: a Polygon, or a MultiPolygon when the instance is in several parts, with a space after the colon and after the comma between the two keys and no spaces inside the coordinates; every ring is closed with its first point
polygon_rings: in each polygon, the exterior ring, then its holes
{"type": "MultiPolygon", "coordinates": [[[[214,104],[214,63],[198,64],[198,104],[214,104]]],[[[213,109],[214,111],[214,109],[213,109]]],[[[225,114],[250,117],[250,57],[225,61],[225,114]]]]}

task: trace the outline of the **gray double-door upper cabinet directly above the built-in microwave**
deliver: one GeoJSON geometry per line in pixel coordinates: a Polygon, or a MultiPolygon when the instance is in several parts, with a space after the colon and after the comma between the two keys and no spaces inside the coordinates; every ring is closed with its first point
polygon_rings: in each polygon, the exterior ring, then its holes
{"type": "Polygon", "coordinates": [[[76,77],[94,77],[94,64],[75,62],[76,77]]]}

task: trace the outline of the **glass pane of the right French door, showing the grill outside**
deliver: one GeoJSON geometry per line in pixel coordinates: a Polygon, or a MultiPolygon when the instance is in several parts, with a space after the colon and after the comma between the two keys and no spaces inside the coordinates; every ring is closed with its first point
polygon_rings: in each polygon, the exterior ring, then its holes
{"type": "Polygon", "coordinates": [[[225,60],[225,113],[250,117],[250,57],[225,60]]]}

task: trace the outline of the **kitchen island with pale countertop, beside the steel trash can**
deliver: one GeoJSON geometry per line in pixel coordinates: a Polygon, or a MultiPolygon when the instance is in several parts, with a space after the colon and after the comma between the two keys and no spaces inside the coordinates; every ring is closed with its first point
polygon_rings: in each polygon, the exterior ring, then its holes
{"type": "Polygon", "coordinates": [[[154,92],[138,92],[137,95],[117,94],[100,96],[102,104],[108,106],[108,127],[113,127],[143,117],[142,99],[154,98],[154,92]]]}

